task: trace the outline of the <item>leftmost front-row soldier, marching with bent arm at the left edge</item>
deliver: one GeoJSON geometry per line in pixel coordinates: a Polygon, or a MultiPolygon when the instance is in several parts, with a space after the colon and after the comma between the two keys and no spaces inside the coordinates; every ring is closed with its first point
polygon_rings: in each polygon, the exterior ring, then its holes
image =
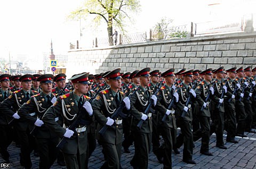
{"type": "MultiPolygon", "coordinates": [[[[26,120],[20,119],[20,115],[17,113],[18,109],[26,103],[31,96],[37,94],[36,91],[31,90],[31,80],[33,75],[25,74],[19,78],[22,89],[16,90],[5,99],[0,105],[0,112],[4,113],[7,117],[13,117],[15,120],[14,130],[17,131],[18,140],[20,143],[20,164],[25,168],[31,168],[30,153],[35,147],[35,139],[31,136],[30,130],[33,125],[29,125],[26,120]],[[15,112],[15,113],[14,113],[15,112]]],[[[17,80],[14,78],[14,80],[17,80]]],[[[34,112],[28,114],[29,116],[35,116],[34,112]]]]}

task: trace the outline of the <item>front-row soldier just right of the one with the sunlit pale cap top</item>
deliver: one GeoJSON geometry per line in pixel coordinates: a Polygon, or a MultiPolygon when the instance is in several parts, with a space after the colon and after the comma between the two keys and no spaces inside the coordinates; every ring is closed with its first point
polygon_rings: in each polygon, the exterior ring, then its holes
{"type": "Polygon", "coordinates": [[[125,97],[121,88],[121,69],[115,69],[106,75],[110,88],[99,93],[92,102],[92,108],[95,120],[98,122],[97,131],[107,125],[108,128],[102,135],[97,133],[97,139],[101,142],[106,162],[101,168],[117,168],[121,166],[121,148],[123,141],[122,117],[118,116],[116,120],[111,119],[111,115],[120,106],[125,103],[123,112],[127,114],[130,110],[130,99],[125,97]]]}

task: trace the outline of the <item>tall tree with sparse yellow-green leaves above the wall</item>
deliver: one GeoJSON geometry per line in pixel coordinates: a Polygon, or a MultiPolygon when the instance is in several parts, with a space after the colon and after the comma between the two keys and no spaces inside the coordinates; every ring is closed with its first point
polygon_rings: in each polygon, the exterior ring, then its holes
{"type": "MultiPolygon", "coordinates": [[[[101,23],[105,21],[108,36],[113,35],[113,24],[124,31],[126,19],[132,20],[129,12],[138,12],[140,4],[138,0],[86,0],[77,10],[71,12],[69,18],[86,18],[89,14],[95,15],[93,21],[101,23]]],[[[113,41],[109,38],[109,44],[113,41]]]]}

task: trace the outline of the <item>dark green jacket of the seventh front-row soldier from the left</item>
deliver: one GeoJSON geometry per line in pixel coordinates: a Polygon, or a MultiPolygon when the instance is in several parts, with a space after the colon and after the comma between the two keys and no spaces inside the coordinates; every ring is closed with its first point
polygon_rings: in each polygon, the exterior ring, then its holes
{"type": "MultiPolygon", "coordinates": [[[[183,109],[186,105],[187,99],[189,97],[189,90],[191,89],[190,86],[186,85],[184,82],[180,83],[180,88],[178,89],[178,94],[179,94],[179,102],[177,103],[177,109],[175,111],[176,118],[178,120],[185,120],[185,121],[192,121],[193,120],[193,115],[191,111],[191,105],[188,105],[188,111],[185,115],[185,117],[181,117],[183,109]]],[[[190,102],[194,99],[194,96],[191,96],[190,102]]]]}

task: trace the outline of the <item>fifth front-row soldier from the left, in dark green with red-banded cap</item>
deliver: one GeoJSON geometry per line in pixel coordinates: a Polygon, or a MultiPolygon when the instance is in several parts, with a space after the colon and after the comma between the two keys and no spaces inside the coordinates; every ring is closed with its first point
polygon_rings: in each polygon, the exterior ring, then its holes
{"type": "Polygon", "coordinates": [[[151,149],[152,139],[152,112],[144,114],[145,110],[153,99],[153,107],[156,105],[157,97],[151,96],[147,86],[149,84],[150,68],[147,67],[139,71],[136,77],[140,78],[140,86],[136,94],[131,97],[131,114],[133,121],[131,131],[134,138],[135,153],[131,160],[133,168],[148,168],[149,151],[151,149]],[[139,121],[142,120],[141,128],[138,128],[139,121]]]}

